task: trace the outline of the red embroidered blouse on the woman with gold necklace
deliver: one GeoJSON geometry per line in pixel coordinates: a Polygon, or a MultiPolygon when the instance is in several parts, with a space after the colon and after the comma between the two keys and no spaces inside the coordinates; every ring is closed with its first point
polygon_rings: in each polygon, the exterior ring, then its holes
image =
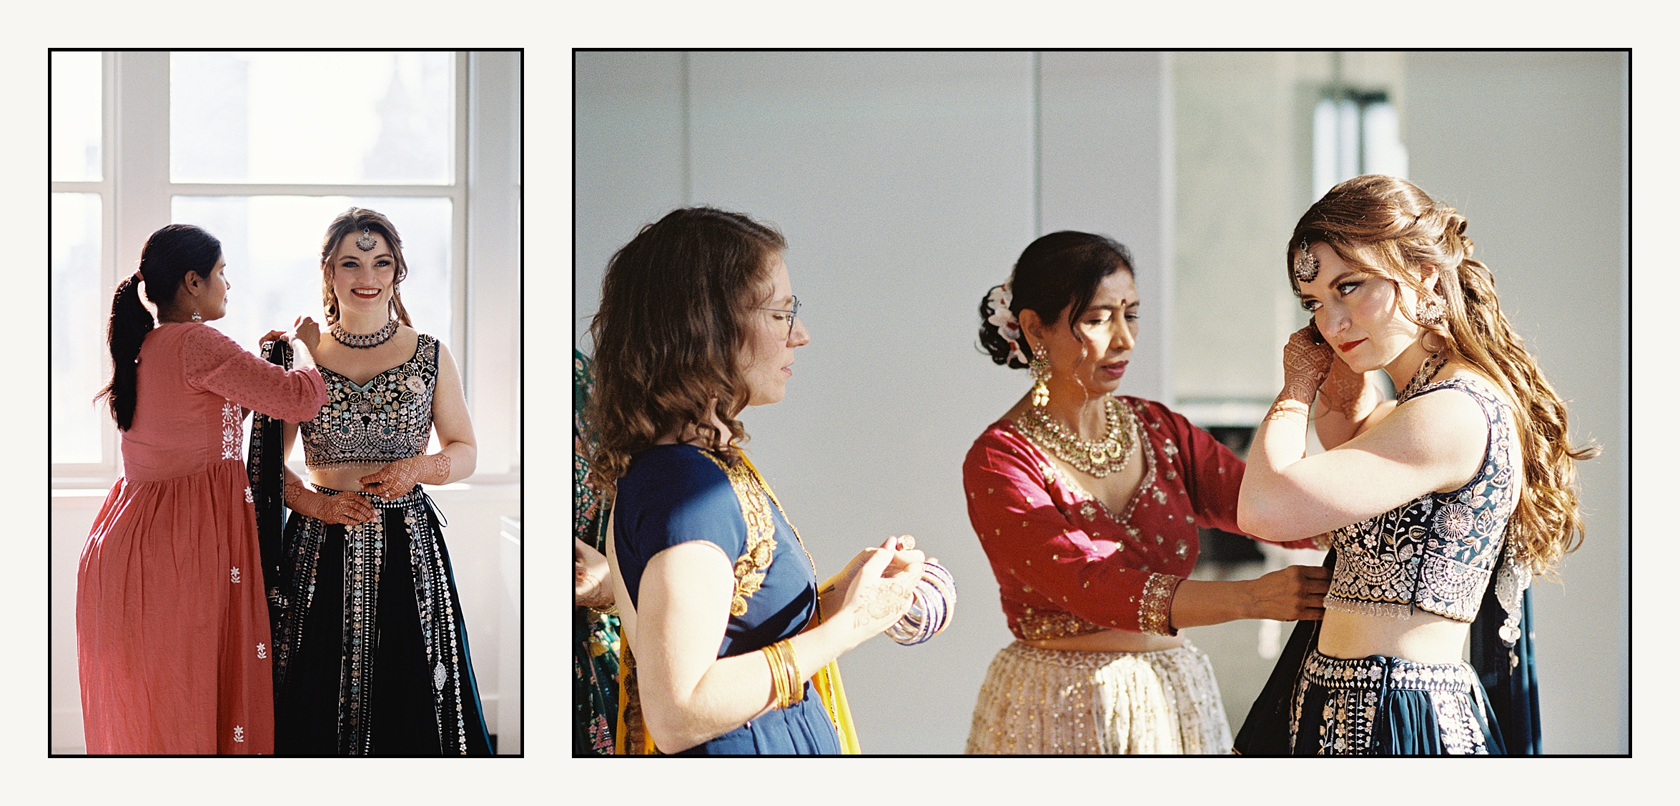
{"type": "Polygon", "coordinates": [[[1137,415],[1144,462],[1137,492],[1119,512],[1053,465],[1010,420],[988,427],[963,460],[968,519],[1016,638],[1102,630],[1176,635],[1168,616],[1178,583],[1196,566],[1196,527],[1242,534],[1243,462],[1164,405],[1119,400],[1137,415]]]}

